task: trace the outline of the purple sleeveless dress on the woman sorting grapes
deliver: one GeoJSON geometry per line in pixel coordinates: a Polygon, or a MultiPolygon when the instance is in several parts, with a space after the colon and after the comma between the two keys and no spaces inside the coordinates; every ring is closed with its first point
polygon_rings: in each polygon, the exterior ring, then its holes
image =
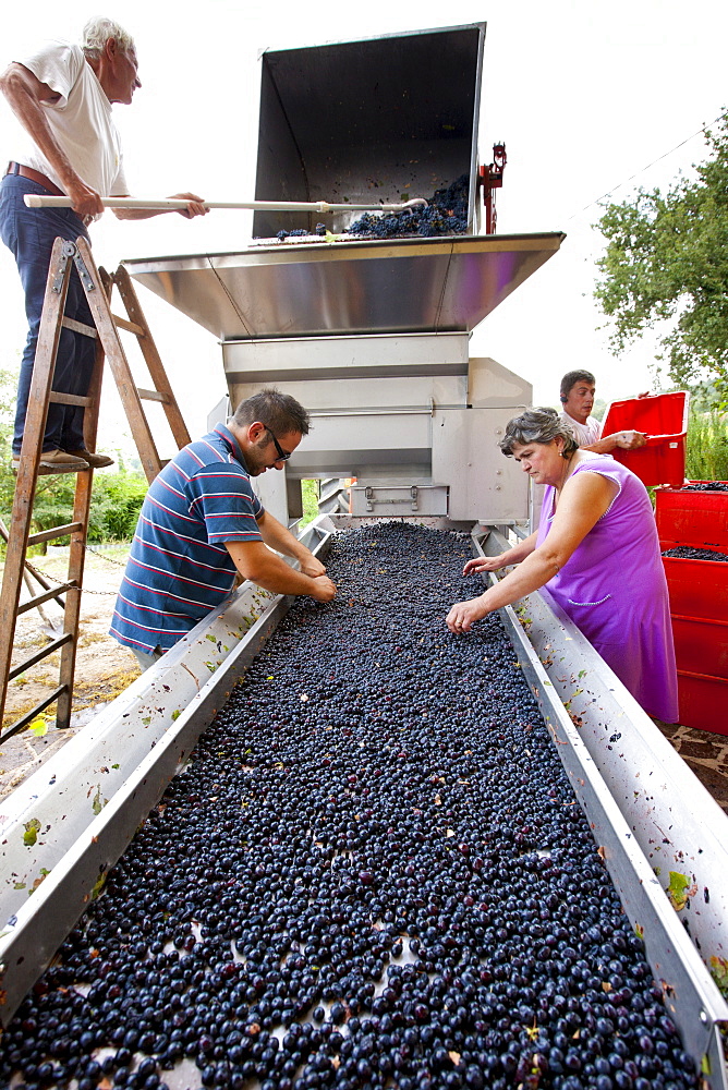
{"type": "MultiPolygon", "coordinates": [[[[666,723],[678,720],[678,677],[667,581],[646,488],[630,470],[591,455],[577,473],[598,473],[619,488],[546,589],[642,707],[666,723]]],[[[554,518],[549,486],[536,547],[554,518]]]]}

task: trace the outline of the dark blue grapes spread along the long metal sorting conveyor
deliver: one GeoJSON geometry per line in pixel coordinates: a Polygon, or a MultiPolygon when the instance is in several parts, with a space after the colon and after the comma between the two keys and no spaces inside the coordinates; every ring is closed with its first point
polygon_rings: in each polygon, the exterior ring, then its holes
{"type": "Polygon", "coordinates": [[[0,1042],[27,1090],[684,1090],[461,535],[338,535],[0,1042]],[[167,1073],[171,1074],[167,1074],[167,1073]]]}

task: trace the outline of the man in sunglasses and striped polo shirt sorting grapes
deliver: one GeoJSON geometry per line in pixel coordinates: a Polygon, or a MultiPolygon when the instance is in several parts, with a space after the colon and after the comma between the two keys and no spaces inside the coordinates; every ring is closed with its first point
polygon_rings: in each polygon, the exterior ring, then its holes
{"type": "Polygon", "coordinates": [[[250,480],[281,470],[307,433],[294,398],[260,390],[151,482],[110,629],[144,668],[230,594],[236,572],[276,594],[336,595],[324,565],[264,510],[250,480]]]}

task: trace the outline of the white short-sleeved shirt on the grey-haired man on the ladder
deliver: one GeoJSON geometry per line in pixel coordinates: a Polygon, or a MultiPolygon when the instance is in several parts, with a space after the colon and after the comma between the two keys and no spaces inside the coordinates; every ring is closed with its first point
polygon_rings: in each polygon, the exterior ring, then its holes
{"type": "MultiPolygon", "coordinates": [[[[122,165],[121,141],[111,120],[111,102],[81,46],[53,39],[37,53],[19,61],[61,97],[43,102],[48,124],[69,162],[102,197],[129,193],[122,165]]],[[[60,190],[61,180],[34,143],[15,158],[39,170],[60,190]]]]}

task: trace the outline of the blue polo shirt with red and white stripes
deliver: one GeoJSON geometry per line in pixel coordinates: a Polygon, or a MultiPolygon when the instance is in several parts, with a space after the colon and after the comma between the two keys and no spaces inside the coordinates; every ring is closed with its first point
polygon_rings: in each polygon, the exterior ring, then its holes
{"type": "Polygon", "coordinates": [[[230,594],[235,566],[225,543],[263,541],[263,513],[225,425],[183,447],[144,499],[111,635],[139,651],[169,651],[230,594]]]}

